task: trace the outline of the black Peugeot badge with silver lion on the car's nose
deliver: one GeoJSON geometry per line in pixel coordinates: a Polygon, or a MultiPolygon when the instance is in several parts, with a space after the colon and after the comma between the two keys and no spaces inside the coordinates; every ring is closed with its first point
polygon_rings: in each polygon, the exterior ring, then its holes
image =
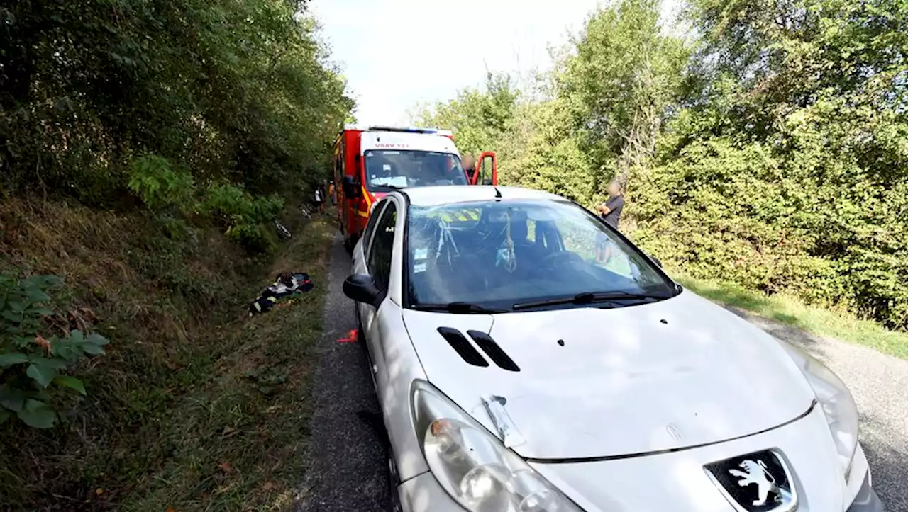
{"type": "Polygon", "coordinates": [[[704,469],[738,512],[792,512],[797,508],[794,480],[775,449],[719,460],[704,469]]]}

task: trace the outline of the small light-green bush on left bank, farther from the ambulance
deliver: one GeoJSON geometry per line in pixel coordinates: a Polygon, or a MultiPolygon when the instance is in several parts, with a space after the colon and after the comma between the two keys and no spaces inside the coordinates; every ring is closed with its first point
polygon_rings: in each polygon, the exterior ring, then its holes
{"type": "Polygon", "coordinates": [[[159,155],[143,155],[130,166],[129,188],[142,198],[149,208],[187,209],[192,205],[195,183],[192,175],[174,170],[168,159],[159,155]]]}

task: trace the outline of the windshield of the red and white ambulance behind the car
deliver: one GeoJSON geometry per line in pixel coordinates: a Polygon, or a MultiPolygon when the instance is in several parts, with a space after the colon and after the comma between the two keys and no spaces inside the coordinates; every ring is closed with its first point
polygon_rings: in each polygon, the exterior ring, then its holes
{"type": "Polygon", "coordinates": [[[467,185],[460,159],[450,153],[410,150],[368,150],[366,188],[388,192],[429,185],[467,185]]]}

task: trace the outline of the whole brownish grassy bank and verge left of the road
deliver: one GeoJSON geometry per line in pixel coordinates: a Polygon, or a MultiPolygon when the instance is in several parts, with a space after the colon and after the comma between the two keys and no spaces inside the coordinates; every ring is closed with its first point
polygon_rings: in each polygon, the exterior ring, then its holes
{"type": "Polygon", "coordinates": [[[288,509],[334,227],[286,224],[294,236],[272,262],[141,210],[0,204],[0,272],[64,276],[55,309],[91,308],[111,340],[74,368],[87,396],[61,402],[60,425],[0,424],[0,509],[288,509]],[[283,270],[315,289],[248,318],[283,270]]]}

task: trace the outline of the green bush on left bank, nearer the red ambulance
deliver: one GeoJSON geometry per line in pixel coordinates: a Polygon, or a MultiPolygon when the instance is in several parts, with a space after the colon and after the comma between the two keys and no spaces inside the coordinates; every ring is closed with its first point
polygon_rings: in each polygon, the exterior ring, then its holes
{"type": "Polygon", "coordinates": [[[234,185],[216,185],[208,189],[200,209],[219,220],[234,242],[252,252],[267,252],[276,243],[268,224],[283,207],[283,199],[276,195],[253,197],[234,185]]]}

